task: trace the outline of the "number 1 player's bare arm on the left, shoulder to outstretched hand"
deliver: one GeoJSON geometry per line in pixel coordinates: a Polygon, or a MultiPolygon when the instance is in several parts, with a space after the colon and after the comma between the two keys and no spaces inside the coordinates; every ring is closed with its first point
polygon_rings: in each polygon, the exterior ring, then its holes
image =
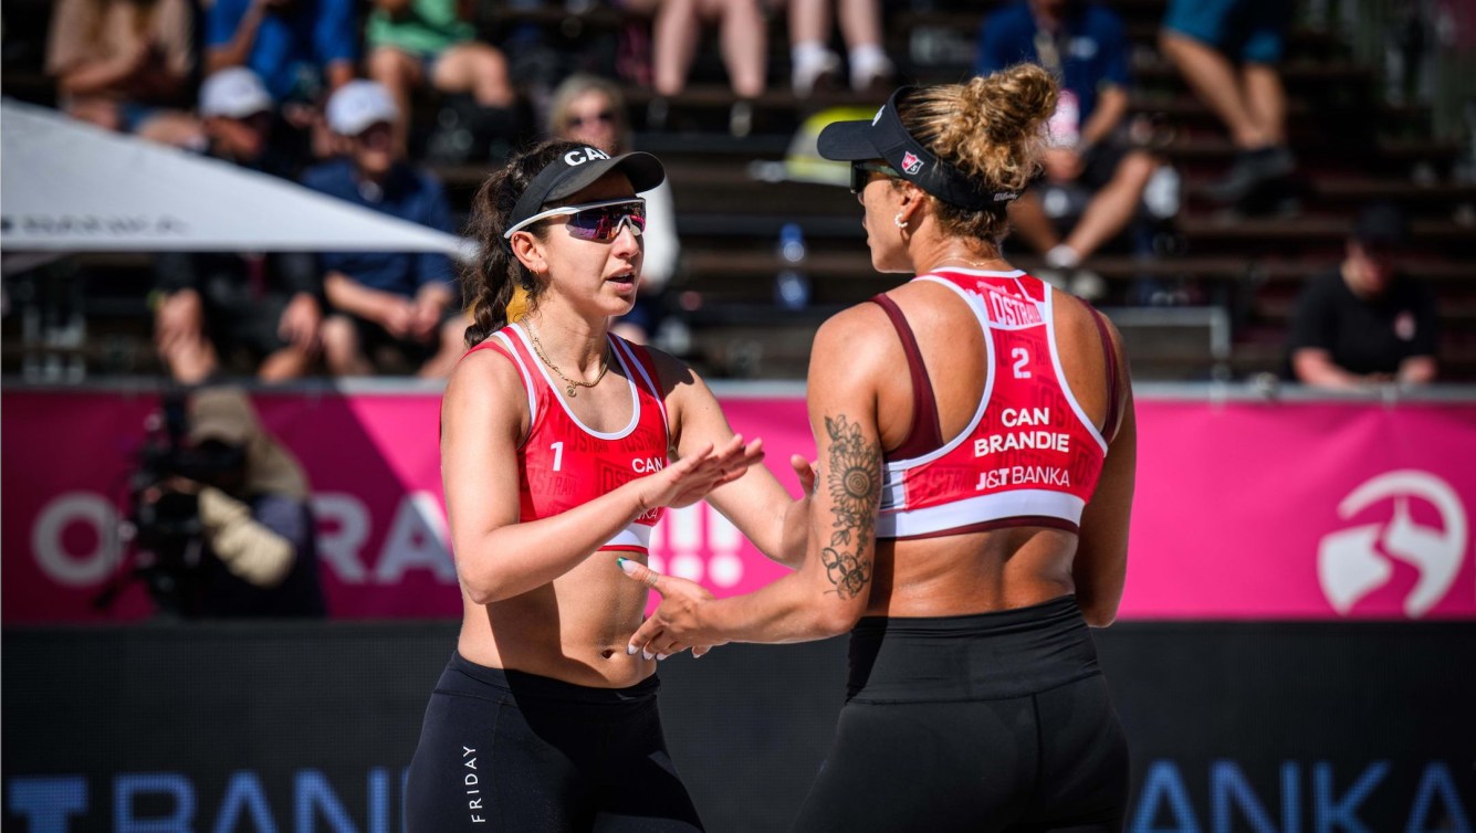
{"type": "Polygon", "coordinates": [[[456,572],[477,603],[497,602],[564,575],[642,513],[686,506],[762,460],[737,438],[704,445],[661,472],[554,517],[518,522],[518,442],[527,395],[492,351],[458,364],[441,402],[441,478],[456,572]]]}

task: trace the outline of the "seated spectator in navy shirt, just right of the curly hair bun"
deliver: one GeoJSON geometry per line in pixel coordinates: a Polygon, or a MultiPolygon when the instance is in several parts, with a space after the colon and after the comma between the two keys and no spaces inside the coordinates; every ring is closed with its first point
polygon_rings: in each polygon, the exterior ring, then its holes
{"type": "Polygon", "coordinates": [[[1132,223],[1144,189],[1163,165],[1148,150],[1129,146],[1125,136],[1129,72],[1122,18],[1098,3],[1075,0],[1024,0],[1001,9],[980,28],[974,71],[987,75],[1018,62],[1044,66],[1061,88],[1042,156],[1044,183],[1010,206],[1010,220],[1045,255],[1046,268],[1038,277],[1097,299],[1106,289],[1101,279],[1079,267],[1132,223]],[[1060,189],[1051,195],[1057,198],[1052,205],[1042,193],[1049,186],[1060,189]],[[1072,215],[1075,224],[1063,239],[1058,218],[1072,215]]]}

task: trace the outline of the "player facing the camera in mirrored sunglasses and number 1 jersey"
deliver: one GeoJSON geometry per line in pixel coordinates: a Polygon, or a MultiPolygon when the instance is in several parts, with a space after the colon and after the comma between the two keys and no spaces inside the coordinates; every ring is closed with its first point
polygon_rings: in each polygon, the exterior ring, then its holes
{"type": "MultiPolygon", "coordinates": [[[[410,762],[412,832],[477,823],[474,752],[500,829],[703,829],[661,737],[666,656],[626,649],[646,588],[621,565],[646,560],[667,507],[704,497],[782,563],[807,501],[689,367],[610,330],[636,298],[638,193],[664,177],[648,153],[549,140],[472,201],[471,349],[441,402],[465,618],[410,762]]],[[[797,470],[806,485],[807,463],[797,470]]]]}

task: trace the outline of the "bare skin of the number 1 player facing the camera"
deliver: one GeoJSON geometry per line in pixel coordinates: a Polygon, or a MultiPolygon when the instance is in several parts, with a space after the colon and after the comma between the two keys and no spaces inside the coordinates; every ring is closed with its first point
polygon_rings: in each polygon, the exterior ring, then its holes
{"type": "MultiPolygon", "coordinates": [[[[613,172],[562,202],[624,196],[635,196],[630,181],[613,172]]],[[[514,255],[542,285],[521,324],[537,333],[564,374],[599,379],[564,402],[589,429],[614,432],[630,422],[633,402],[630,380],[607,358],[605,335],[611,317],[633,302],[641,239],[626,226],[613,240],[582,240],[565,224],[567,218],[554,217],[512,236],[514,255]],[[607,360],[611,367],[601,377],[607,360]]],[[[452,373],[441,408],[441,469],[465,607],[458,650],[471,662],[596,687],[648,677],[654,656],[626,650],[648,588],[626,578],[615,560],[645,556],[595,550],[652,507],[706,497],[760,551],[781,562],[797,559],[806,501],[791,500],[759,464],[762,442],[734,435],[701,377],[663,352],[652,357],[664,391],[670,463],[590,503],[530,522],[518,520],[517,457],[530,414],[517,367],[493,351],[474,351],[452,373]]]]}

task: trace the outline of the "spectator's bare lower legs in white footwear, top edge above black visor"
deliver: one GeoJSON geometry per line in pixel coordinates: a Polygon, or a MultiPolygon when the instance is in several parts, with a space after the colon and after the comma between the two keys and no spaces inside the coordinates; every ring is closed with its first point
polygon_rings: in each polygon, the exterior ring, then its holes
{"type": "Polygon", "coordinates": [[[840,72],[840,56],[830,49],[832,4],[840,6],[852,90],[869,93],[890,88],[896,68],[881,49],[880,0],[790,0],[794,94],[806,97],[816,87],[828,87],[840,72]]]}

